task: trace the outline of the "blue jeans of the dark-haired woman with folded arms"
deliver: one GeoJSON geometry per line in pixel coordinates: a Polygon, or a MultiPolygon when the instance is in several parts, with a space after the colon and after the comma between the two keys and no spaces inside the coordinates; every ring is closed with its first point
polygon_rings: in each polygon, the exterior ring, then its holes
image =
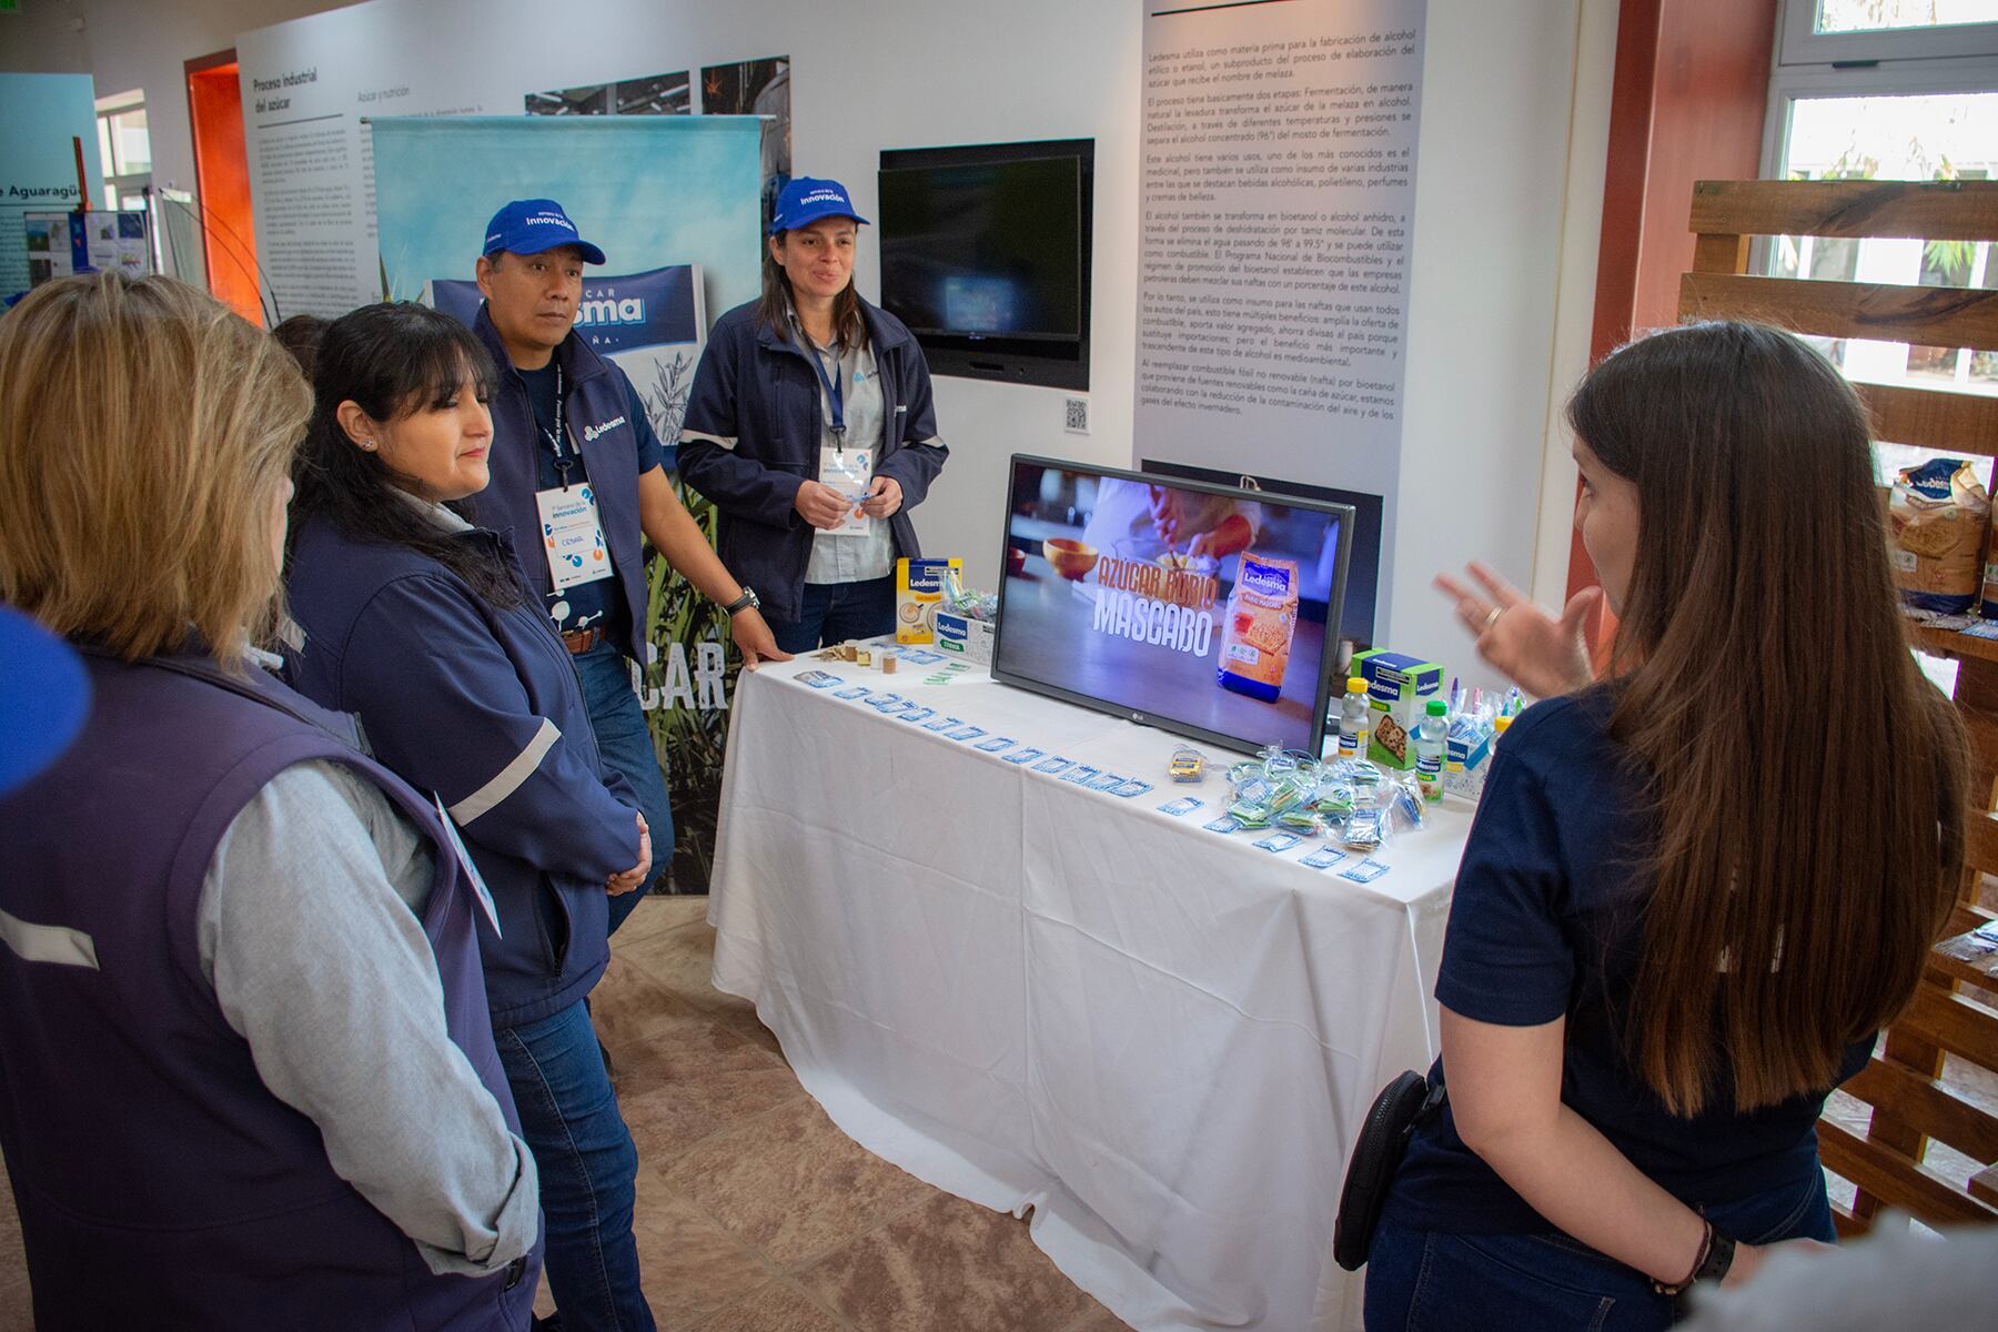
{"type": "Polygon", "coordinates": [[[541,1174],[543,1270],[561,1330],[653,1332],[631,1240],[637,1146],[589,1012],[573,1002],[539,1022],[501,1026],[494,1040],[541,1174]]]}

